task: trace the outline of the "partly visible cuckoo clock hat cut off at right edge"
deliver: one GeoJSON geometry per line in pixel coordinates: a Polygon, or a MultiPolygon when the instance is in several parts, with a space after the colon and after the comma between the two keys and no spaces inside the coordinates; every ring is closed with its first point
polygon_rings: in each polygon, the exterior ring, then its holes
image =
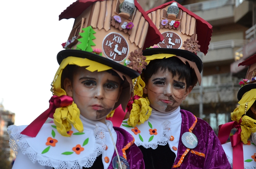
{"type": "MultiPolygon", "coordinates": [[[[252,89],[256,90],[256,54],[246,59],[244,62],[238,64],[238,66],[249,66],[246,77],[244,79],[244,85],[239,89],[237,93],[237,99],[241,100],[244,94],[252,89]]],[[[241,82],[240,82],[241,83],[241,82]]],[[[256,92],[256,91],[255,91],[256,92]]]]}

